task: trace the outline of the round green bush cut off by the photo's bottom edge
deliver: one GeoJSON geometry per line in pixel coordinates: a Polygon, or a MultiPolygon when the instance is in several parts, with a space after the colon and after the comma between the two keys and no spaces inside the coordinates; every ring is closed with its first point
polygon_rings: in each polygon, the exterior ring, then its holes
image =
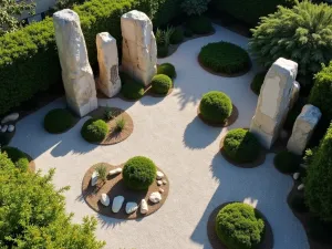
{"type": "Polygon", "coordinates": [[[262,241],[264,221],[247,204],[229,204],[216,218],[218,238],[229,249],[253,249],[262,241]]]}

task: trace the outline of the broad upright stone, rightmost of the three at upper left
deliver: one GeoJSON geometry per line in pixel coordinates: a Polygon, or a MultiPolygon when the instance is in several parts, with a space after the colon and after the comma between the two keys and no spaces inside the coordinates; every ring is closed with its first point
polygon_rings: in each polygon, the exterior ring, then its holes
{"type": "Polygon", "coordinates": [[[122,69],[148,85],[157,73],[157,46],[149,18],[137,10],[122,15],[122,69]]]}

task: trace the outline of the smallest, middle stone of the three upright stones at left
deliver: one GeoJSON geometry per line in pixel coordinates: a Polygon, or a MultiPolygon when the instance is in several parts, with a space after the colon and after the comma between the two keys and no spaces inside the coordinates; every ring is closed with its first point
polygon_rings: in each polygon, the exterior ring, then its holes
{"type": "Polygon", "coordinates": [[[96,46],[100,64],[97,87],[113,97],[121,90],[116,40],[108,32],[102,32],[96,35],[96,46]]]}

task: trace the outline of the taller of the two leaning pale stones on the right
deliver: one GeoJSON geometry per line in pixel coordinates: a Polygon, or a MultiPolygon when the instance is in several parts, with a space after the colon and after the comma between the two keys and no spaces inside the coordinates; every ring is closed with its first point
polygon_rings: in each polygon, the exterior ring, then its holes
{"type": "Polygon", "coordinates": [[[279,136],[293,98],[297,74],[298,63],[280,58],[264,79],[250,132],[266,148],[270,148],[279,136]]]}

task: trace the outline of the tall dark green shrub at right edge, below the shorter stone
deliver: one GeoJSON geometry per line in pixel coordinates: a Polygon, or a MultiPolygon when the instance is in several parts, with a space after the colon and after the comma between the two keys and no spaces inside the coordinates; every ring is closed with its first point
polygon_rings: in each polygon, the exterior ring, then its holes
{"type": "Polygon", "coordinates": [[[307,204],[322,220],[332,221],[332,125],[309,162],[304,179],[307,204]]]}

